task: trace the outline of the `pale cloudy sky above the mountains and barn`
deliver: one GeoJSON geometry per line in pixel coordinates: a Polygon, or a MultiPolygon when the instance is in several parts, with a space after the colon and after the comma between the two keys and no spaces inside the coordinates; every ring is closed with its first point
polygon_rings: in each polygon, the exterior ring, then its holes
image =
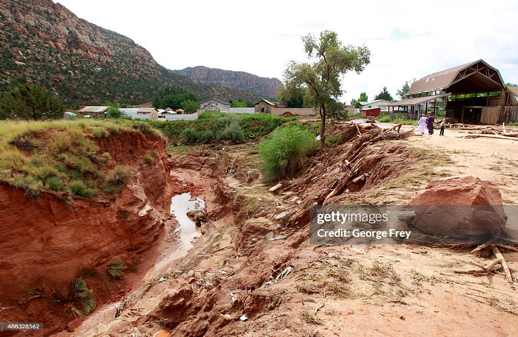
{"type": "Polygon", "coordinates": [[[134,1],[54,0],[78,17],[132,38],[169,69],[244,71],[282,80],[304,61],[301,36],[334,30],[343,44],[366,45],[371,63],[342,80],[349,102],[386,86],[484,59],[518,82],[518,2],[503,1],[134,1]]]}

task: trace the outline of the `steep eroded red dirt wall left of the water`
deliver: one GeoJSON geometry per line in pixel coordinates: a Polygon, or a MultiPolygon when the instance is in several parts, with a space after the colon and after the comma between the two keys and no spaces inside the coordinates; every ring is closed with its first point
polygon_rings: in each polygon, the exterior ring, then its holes
{"type": "Polygon", "coordinates": [[[77,303],[52,304],[55,294],[67,297],[71,280],[85,274],[99,275],[86,279],[97,305],[124,293],[124,285],[107,276],[108,263],[123,259],[131,266],[164,227],[155,207],[161,208],[170,188],[165,141],[122,130],[96,141],[99,153],[111,155],[105,170],[135,168],[131,183],[114,200],[98,194],[67,206],[41,193],[32,202],[23,191],[0,185],[0,306],[13,306],[0,314],[9,321],[45,322],[45,335],[74,319],[72,305],[81,309],[77,303]],[[152,151],[156,160],[142,163],[152,151]]]}

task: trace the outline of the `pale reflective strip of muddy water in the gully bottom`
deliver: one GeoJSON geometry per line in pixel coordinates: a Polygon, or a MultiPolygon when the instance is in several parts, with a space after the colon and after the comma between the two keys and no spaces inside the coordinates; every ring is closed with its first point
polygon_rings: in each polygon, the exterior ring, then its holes
{"type": "Polygon", "coordinates": [[[146,279],[148,282],[158,279],[165,274],[178,259],[182,259],[194,246],[197,238],[202,235],[199,227],[189,219],[187,212],[190,210],[204,210],[205,201],[201,198],[191,196],[191,192],[173,196],[166,204],[166,209],[178,221],[178,227],[170,235],[176,235],[179,243],[178,247],[170,254],[163,257],[148,272],[146,279]]]}

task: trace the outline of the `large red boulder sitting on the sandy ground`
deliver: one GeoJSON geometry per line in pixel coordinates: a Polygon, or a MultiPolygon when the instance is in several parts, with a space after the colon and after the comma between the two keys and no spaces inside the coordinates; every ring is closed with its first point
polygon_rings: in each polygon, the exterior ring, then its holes
{"type": "Polygon", "coordinates": [[[506,227],[502,197],[490,181],[473,176],[430,181],[410,200],[409,224],[430,235],[468,238],[496,234],[506,227]]]}

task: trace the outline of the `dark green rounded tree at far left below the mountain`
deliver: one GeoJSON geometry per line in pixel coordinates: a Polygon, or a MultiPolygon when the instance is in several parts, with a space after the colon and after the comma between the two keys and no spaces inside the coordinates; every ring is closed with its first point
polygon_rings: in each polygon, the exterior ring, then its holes
{"type": "Polygon", "coordinates": [[[64,111],[63,103],[38,85],[18,85],[0,100],[0,119],[61,119],[64,111]]]}

